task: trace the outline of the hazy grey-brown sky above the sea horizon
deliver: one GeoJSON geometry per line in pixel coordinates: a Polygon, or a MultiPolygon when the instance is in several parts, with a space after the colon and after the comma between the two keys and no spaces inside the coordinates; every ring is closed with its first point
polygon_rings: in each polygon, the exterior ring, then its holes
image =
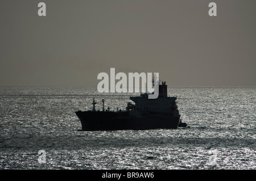
{"type": "Polygon", "coordinates": [[[97,86],[110,68],[174,87],[256,86],[255,0],[1,0],[0,20],[2,86],[97,86]]]}

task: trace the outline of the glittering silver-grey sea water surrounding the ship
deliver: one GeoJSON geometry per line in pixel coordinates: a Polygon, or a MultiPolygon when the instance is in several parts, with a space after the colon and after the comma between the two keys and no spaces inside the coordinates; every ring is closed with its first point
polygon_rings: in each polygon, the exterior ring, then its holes
{"type": "Polygon", "coordinates": [[[75,111],[91,109],[93,97],[98,110],[102,98],[125,109],[129,94],[0,87],[0,169],[256,169],[255,93],[170,87],[190,128],[83,132],[75,111]]]}

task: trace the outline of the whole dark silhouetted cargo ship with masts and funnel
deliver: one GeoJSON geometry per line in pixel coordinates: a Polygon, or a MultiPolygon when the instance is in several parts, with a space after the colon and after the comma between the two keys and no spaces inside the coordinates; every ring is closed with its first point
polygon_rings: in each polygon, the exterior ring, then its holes
{"type": "Polygon", "coordinates": [[[159,85],[159,95],[156,99],[148,99],[148,93],[141,96],[130,96],[135,104],[129,102],[126,110],[102,111],[95,110],[93,98],[92,111],[77,111],[82,125],[82,131],[112,131],[112,130],[144,130],[144,129],[176,129],[187,127],[181,123],[179,110],[176,105],[177,97],[167,96],[166,82],[159,85]]]}

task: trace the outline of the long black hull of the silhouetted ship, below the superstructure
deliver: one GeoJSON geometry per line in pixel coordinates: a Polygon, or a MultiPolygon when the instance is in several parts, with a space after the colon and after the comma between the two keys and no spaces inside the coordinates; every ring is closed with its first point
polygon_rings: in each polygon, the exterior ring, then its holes
{"type": "Polygon", "coordinates": [[[82,131],[176,129],[180,115],[158,113],[145,116],[129,116],[128,112],[77,111],[82,131]]]}

